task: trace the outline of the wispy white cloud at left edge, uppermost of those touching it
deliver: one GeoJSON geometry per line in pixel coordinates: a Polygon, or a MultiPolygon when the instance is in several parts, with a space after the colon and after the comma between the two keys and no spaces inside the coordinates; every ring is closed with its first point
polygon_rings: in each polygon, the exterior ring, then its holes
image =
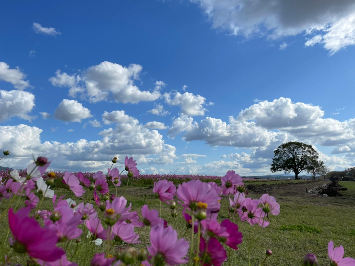
{"type": "Polygon", "coordinates": [[[29,81],[24,81],[26,75],[23,74],[19,67],[10,68],[5,62],[0,62],[0,81],[6,81],[13,84],[18,90],[24,90],[29,87],[29,81]]]}

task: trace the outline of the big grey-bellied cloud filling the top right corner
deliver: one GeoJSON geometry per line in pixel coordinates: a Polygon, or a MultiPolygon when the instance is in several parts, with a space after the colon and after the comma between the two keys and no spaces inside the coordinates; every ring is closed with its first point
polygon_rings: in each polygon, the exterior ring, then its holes
{"type": "Polygon", "coordinates": [[[312,34],[313,40],[307,40],[306,45],[322,43],[330,54],[355,43],[352,0],[191,1],[200,5],[213,28],[224,29],[231,35],[278,39],[312,34]]]}

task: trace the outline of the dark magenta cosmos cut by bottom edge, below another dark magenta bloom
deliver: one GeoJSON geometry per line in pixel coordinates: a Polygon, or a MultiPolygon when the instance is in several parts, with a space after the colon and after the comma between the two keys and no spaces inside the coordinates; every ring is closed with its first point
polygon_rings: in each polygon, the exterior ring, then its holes
{"type": "Polygon", "coordinates": [[[200,257],[203,266],[214,265],[220,266],[227,259],[227,253],[219,241],[212,237],[208,240],[207,249],[206,242],[200,238],[200,257]],[[206,250],[206,254],[204,251],[206,250]]]}

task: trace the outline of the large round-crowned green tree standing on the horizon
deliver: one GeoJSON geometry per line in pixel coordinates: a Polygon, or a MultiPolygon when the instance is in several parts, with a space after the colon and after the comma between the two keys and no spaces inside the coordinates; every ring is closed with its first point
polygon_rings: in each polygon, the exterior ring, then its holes
{"type": "Polygon", "coordinates": [[[274,158],[271,164],[271,172],[284,171],[294,172],[295,178],[302,171],[309,171],[315,160],[318,160],[318,153],[312,145],[302,142],[288,142],[278,146],[274,150],[274,158]]]}

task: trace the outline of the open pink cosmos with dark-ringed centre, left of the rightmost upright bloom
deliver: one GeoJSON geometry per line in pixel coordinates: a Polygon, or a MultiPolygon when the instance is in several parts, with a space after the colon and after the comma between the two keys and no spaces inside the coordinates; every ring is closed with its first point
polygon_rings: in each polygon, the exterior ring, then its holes
{"type": "Polygon", "coordinates": [[[265,216],[262,214],[262,209],[258,207],[259,204],[260,201],[257,199],[252,200],[251,198],[246,198],[238,210],[240,220],[242,222],[247,221],[250,223],[250,225],[255,225],[258,223],[259,226],[267,227],[269,222],[263,219],[265,216]]]}

